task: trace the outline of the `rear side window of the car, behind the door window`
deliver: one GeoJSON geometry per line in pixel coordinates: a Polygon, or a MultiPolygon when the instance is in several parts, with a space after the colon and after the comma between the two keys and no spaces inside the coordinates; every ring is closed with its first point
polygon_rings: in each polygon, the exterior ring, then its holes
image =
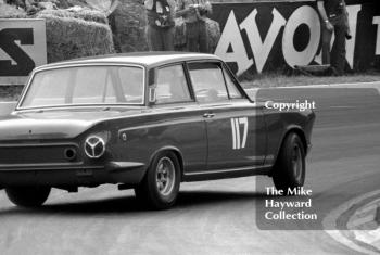
{"type": "Polygon", "coordinates": [[[155,93],[156,104],[191,101],[182,65],[157,69],[155,93]]]}

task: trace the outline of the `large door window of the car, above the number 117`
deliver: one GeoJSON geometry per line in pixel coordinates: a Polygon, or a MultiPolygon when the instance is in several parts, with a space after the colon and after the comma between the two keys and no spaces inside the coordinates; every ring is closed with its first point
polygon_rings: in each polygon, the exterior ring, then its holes
{"type": "Polygon", "coordinates": [[[190,63],[191,82],[201,103],[227,100],[227,90],[223,71],[217,63],[190,63]]]}

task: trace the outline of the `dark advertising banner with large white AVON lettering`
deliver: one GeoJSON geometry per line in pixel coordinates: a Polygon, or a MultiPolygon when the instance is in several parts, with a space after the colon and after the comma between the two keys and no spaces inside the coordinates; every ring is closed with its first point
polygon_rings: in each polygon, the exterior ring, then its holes
{"type": "MultiPolygon", "coordinates": [[[[376,1],[347,1],[352,39],[347,68],[380,69],[380,9],[376,1]]],[[[242,74],[321,64],[321,23],[315,1],[215,3],[221,37],[215,54],[242,74]]],[[[332,39],[333,41],[333,39],[332,39]]]]}

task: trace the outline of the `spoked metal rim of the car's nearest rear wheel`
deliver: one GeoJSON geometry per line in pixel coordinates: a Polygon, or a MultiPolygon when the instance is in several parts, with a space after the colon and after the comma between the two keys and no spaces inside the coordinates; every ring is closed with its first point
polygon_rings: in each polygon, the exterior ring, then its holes
{"type": "Polygon", "coordinates": [[[156,186],[160,194],[167,196],[175,184],[176,170],[169,157],[162,157],[156,167],[156,186]]]}

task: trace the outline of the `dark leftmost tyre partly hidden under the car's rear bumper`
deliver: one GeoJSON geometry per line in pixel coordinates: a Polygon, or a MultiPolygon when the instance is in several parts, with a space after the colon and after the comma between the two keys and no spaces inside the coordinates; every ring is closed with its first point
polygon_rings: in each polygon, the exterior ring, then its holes
{"type": "Polygon", "coordinates": [[[7,188],[8,199],[15,205],[23,207],[38,207],[50,194],[50,187],[16,187],[7,188]]]}

